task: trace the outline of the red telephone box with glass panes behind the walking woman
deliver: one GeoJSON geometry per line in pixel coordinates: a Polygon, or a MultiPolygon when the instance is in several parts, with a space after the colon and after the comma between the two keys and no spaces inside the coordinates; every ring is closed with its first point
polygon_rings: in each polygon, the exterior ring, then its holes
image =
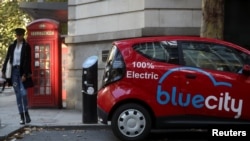
{"type": "Polygon", "coordinates": [[[34,87],[28,90],[30,108],[62,106],[59,23],[39,19],[27,26],[31,45],[34,87]]]}

